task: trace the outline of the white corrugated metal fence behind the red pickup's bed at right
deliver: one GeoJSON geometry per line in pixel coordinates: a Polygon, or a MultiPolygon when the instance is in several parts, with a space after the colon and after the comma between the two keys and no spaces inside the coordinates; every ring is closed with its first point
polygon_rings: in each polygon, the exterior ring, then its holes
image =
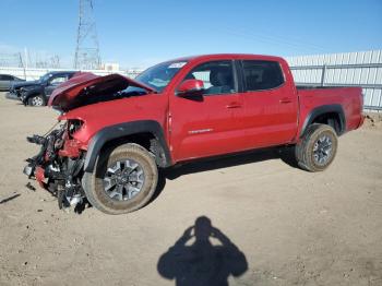
{"type": "Polygon", "coordinates": [[[287,58],[296,84],[360,86],[366,110],[382,110],[382,50],[287,58]]]}

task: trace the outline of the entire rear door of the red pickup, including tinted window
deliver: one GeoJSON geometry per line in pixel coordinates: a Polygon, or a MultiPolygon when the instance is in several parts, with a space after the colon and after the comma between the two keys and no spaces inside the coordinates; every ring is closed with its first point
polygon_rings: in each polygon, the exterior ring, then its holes
{"type": "Polygon", "coordinates": [[[279,63],[242,60],[241,71],[248,144],[263,147],[290,142],[296,134],[298,102],[279,63]]]}

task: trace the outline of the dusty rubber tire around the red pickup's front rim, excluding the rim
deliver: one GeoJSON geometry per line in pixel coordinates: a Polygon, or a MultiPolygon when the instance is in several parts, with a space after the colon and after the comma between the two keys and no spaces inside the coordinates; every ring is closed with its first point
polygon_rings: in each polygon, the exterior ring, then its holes
{"type": "Polygon", "coordinates": [[[133,143],[103,152],[97,158],[94,172],[85,172],[83,178],[84,191],[89,203],[99,211],[114,215],[130,213],[147,204],[155,193],[157,181],[158,169],[155,159],[147,150],[133,143]],[[131,199],[116,200],[105,190],[104,178],[110,166],[127,159],[139,164],[143,170],[144,182],[131,199]]]}

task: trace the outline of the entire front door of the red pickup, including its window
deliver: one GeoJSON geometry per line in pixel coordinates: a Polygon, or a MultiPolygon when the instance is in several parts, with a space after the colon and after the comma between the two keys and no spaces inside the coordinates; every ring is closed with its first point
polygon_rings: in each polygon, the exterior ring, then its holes
{"type": "Polygon", "coordinates": [[[175,160],[231,153],[240,148],[242,98],[231,60],[196,65],[183,79],[202,80],[203,96],[170,96],[170,148],[175,160]]]}

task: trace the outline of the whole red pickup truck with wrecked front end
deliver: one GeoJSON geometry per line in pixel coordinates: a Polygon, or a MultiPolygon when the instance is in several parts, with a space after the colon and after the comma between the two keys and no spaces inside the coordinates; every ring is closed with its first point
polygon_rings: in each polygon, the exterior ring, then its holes
{"type": "Polygon", "coordinates": [[[108,214],[145,205],[158,168],[270,146],[294,146],[299,166],[321,171],[337,136],[362,124],[358,87],[296,86],[287,62],[255,55],[208,55],[154,65],[135,80],[79,73],[49,105],[60,127],[24,172],[60,206],[87,199],[108,214]]]}

